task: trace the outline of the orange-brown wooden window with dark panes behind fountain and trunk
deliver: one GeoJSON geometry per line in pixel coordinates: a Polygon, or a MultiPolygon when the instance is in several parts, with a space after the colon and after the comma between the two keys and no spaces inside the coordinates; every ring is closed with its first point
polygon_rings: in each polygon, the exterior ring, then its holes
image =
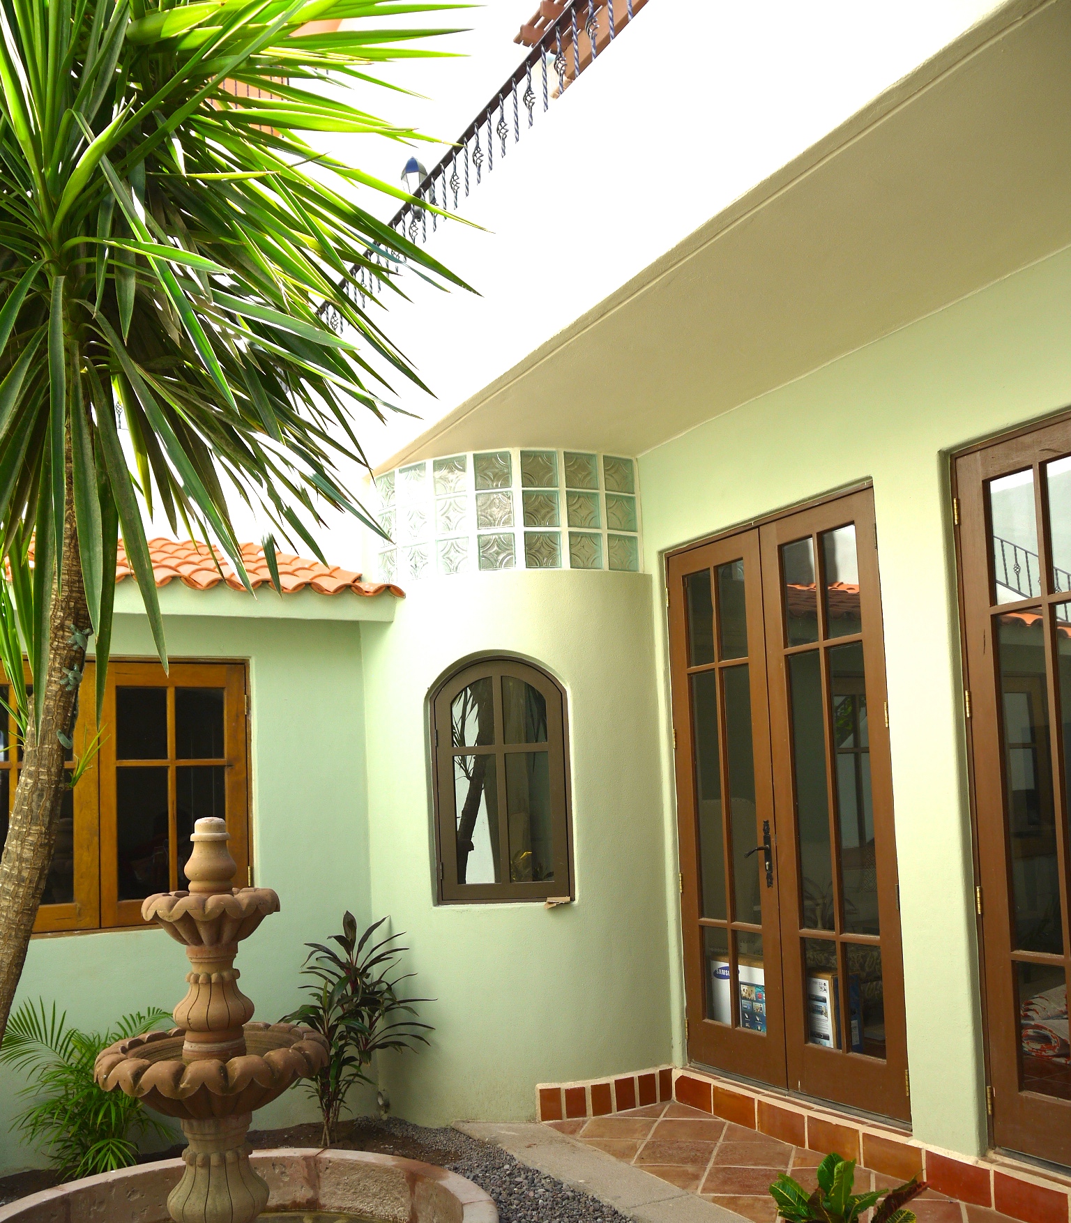
{"type": "MultiPolygon", "coordinates": [[[[0,673],[0,697],[7,700],[0,673]]],[[[75,725],[79,755],[97,733],[94,665],[86,664],[75,725]]],[[[237,881],[248,878],[246,668],[241,663],[112,659],[100,751],[64,796],[35,933],[142,926],[142,900],[185,885],[193,822],[221,816],[237,881]]],[[[0,841],[22,759],[0,715],[0,841]]],[[[73,762],[72,762],[73,763],[73,762]]]]}

